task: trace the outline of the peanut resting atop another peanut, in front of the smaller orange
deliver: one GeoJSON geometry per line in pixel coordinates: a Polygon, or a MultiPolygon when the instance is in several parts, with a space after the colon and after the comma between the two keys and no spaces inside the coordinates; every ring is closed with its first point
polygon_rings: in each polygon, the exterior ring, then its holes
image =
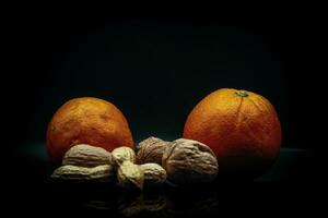
{"type": "Polygon", "coordinates": [[[74,165],[80,167],[113,165],[113,157],[109,152],[102,147],[80,144],[71,147],[65,154],[62,165],[74,165]]]}

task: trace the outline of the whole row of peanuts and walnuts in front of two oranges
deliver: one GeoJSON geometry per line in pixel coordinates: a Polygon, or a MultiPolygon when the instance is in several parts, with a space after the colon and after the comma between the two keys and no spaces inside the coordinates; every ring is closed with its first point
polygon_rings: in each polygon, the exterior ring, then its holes
{"type": "Polygon", "coordinates": [[[109,181],[116,177],[119,186],[143,190],[166,180],[174,184],[209,182],[218,170],[215,155],[202,143],[149,137],[139,143],[137,155],[125,146],[109,153],[86,144],[75,145],[51,177],[70,181],[109,181]]]}

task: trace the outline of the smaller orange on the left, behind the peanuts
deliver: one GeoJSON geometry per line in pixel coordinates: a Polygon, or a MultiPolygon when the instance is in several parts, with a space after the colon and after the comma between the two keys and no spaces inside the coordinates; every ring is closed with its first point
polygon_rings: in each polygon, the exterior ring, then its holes
{"type": "Polygon", "coordinates": [[[47,149],[54,161],[60,162],[71,146],[82,143],[107,150],[133,146],[128,122],[120,110],[108,101],[92,97],[69,100],[48,124],[47,149]]]}

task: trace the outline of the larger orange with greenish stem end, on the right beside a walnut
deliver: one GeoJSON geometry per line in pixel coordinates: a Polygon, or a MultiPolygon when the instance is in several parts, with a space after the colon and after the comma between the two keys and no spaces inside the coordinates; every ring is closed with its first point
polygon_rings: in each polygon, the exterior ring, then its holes
{"type": "Polygon", "coordinates": [[[222,173],[255,177],[278,157],[281,126],[265,97],[222,88],[194,108],[185,123],[184,137],[210,146],[222,173]]]}

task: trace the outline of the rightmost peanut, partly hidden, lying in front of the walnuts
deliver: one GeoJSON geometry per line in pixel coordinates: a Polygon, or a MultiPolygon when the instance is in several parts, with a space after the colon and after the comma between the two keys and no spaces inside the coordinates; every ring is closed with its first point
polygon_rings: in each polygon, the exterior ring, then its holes
{"type": "Polygon", "coordinates": [[[163,184],[166,180],[166,171],[157,164],[140,165],[144,174],[144,184],[156,185],[163,184]]]}

